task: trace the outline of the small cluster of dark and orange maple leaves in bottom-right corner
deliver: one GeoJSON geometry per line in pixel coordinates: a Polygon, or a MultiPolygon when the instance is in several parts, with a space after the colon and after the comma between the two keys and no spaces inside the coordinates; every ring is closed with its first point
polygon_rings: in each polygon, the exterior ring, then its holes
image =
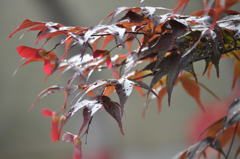
{"type": "MultiPolygon", "coordinates": [[[[195,157],[207,157],[207,150],[212,148],[218,152],[218,158],[222,156],[227,159],[234,144],[235,138],[240,137],[240,98],[236,98],[229,106],[225,116],[212,123],[204,134],[202,139],[196,144],[190,146],[183,152],[179,153],[176,158],[193,159],[195,157]],[[229,144],[229,149],[224,147],[229,144]]],[[[237,159],[240,154],[240,146],[236,149],[234,158],[237,159]]]]}

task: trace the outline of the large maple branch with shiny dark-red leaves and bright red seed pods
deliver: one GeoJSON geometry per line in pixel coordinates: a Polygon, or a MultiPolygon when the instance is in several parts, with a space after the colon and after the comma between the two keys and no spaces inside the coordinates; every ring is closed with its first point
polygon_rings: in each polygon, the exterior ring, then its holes
{"type": "MultiPolygon", "coordinates": [[[[81,156],[81,135],[88,134],[93,115],[102,108],[116,120],[120,132],[124,134],[124,105],[134,89],[146,96],[145,108],[150,94],[153,94],[160,111],[162,98],[168,94],[170,104],[173,87],[181,83],[186,93],[204,111],[200,88],[208,89],[197,81],[193,67],[200,60],[206,62],[203,74],[214,66],[219,76],[220,59],[235,59],[232,85],[235,87],[240,77],[240,62],[237,61],[240,59],[240,14],[230,12],[228,8],[238,1],[224,1],[223,7],[220,0],[216,0],[215,8],[207,8],[204,0],[204,10],[192,15],[177,14],[187,2],[179,1],[174,10],[162,7],[120,7],[98,25],[91,27],[64,26],[26,19],[9,35],[11,38],[24,29],[28,32],[38,31],[36,44],[45,40],[42,47],[52,38],[62,37],[51,50],[17,47],[19,55],[26,58],[20,66],[42,61],[47,76],[57,71],[73,71],[66,85],[53,85],[43,90],[33,104],[50,94],[63,91],[64,104],[57,112],[42,110],[44,116],[52,118],[52,141],[60,139],[63,126],[79,110],[83,114],[79,132],[77,135],[69,132],[63,135],[64,141],[75,145],[75,158],[81,156]],[[159,15],[159,11],[166,13],[159,15]],[[219,19],[220,13],[224,12],[231,15],[219,19]],[[65,51],[59,56],[54,50],[61,45],[65,51]],[[77,47],[77,54],[68,55],[74,47],[77,47]],[[117,52],[118,48],[125,53],[117,52]],[[93,72],[103,69],[111,70],[112,78],[89,80],[93,72]],[[144,82],[146,78],[151,78],[150,84],[144,82]],[[113,93],[119,97],[118,102],[110,98],[113,93]]],[[[211,145],[210,139],[203,142],[204,145],[211,145]]]]}

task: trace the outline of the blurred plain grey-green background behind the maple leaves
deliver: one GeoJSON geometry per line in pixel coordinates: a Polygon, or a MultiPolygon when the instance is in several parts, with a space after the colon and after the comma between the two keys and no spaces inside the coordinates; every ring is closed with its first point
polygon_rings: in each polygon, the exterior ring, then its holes
{"type": "MultiPolygon", "coordinates": [[[[50,140],[50,120],[39,113],[41,108],[55,108],[62,105],[61,94],[53,95],[40,102],[31,112],[28,111],[36,95],[52,84],[64,83],[66,75],[54,75],[44,82],[42,63],[32,63],[21,68],[13,76],[20,63],[15,48],[18,45],[34,46],[34,33],[18,33],[12,39],[8,34],[24,19],[33,21],[53,21],[65,25],[93,26],[105,15],[121,6],[161,6],[174,8],[177,0],[0,0],[0,158],[6,159],[67,159],[72,155],[72,145],[50,140]]],[[[186,13],[202,7],[201,1],[192,0],[186,13]]],[[[237,6],[239,8],[239,6],[237,6]]],[[[56,42],[56,41],[55,41],[56,42]]],[[[54,45],[54,41],[50,43],[54,45]]],[[[219,97],[227,97],[232,81],[231,61],[220,63],[220,79],[199,78],[219,97]]],[[[203,71],[203,63],[195,68],[203,71]]],[[[203,101],[215,100],[202,90],[203,101]]],[[[163,110],[157,113],[152,101],[146,117],[141,117],[145,99],[134,93],[126,104],[124,129],[125,136],[118,130],[115,121],[106,113],[97,113],[84,145],[86,153],[108,149],[116,159],[168,159],[183,150],[186,141],[187,125],[193,114],[199,111],[193,99],[186,95],[181,86],[174,89],[171,107],[166,99],[163,110]]],[[[81,124],[81,115],[76,116],[65,130],[76,132],[81,124]]]]}

